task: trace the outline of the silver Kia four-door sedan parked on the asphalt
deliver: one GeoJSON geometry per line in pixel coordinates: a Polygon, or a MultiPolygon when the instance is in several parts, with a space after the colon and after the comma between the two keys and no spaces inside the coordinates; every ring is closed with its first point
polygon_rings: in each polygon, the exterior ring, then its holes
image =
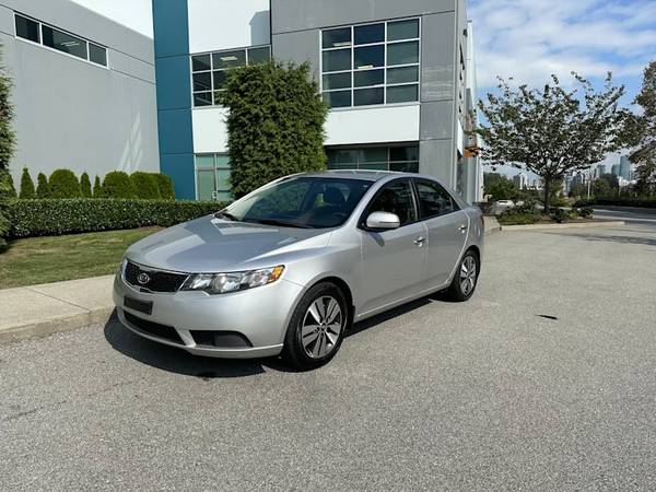
{"type": "Polygon", "coordinates": [[[355,321],[436,291],[467,301],[482,250],[480,210],[431,177],[298,174],[131,246],[114,302],[156,342],[313,368],[355,321]]]}

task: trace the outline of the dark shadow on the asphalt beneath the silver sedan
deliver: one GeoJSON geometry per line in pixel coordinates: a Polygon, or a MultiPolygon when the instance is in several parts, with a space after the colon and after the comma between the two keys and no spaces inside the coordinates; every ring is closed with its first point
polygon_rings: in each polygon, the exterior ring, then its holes
{"type": "MultiPolygon", "coordinates": [[[[422,297],[355,324],[347,332],[345,338],[375,328],[382,323],[402,316],[435,301],[445,302],[440,294],[422,297]]],[[[191,355],[183,349],[156,343],[134,335],[120,324],[116,313],[105,324],[104,335],[114,350],[130,359],[169,373],[194,376],[203,380],[254,376],[265,373],[266,367],[285,373],[298,372],[285,364],[280,358],[238,360],[191,355]]]]}

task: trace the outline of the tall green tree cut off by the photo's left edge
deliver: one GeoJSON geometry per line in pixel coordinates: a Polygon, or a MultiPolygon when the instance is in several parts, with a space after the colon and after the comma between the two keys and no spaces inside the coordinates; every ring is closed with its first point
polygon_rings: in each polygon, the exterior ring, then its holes
{"type": "Polygon", "coordinates": [[[14,108],[10,99],[11,86],[11,79],[7,75],[4,68],[0,67],[0,250],[7,246],[4,237],[8,236],[11,226],[7,216],[7,200],[16,195],[13,179],[9,173],[9,162],[15,150],[15,133],[12,127],[14,108]]]}

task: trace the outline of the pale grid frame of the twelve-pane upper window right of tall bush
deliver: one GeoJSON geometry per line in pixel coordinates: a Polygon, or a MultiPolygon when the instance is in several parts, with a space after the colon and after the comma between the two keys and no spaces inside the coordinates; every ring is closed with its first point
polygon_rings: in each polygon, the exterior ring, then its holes
{"type": "MultiPolygon", "coordinates": [[[[421,16],[410,16],[410,17],[399,17],[399,19],[389,19],[389,20],[382,20],[382,21],[375,21],[375,22],[365,22],[365,23],[359,23],[359,24],[351,24],[351,25],[341,25],[341,26],[331,26],[331,27],[326,27],[326,28],[321,28],[319,30],[319,87],[320,87],[320,93],[321,96],[324,97],[324,99],[326,101],[326,95],[330,95],[333,93],[350,93],[350,104],[348,105],[340,105],[340,106],[331,106],[331,110],[343,110],[343,109],[360,109],[360,108],[367,108],[367,107],[379,107],[379,106],[397,106],[397,105],[415,105],[419,104],[421,101],[421,49],[422,49],[422,22],[421,22],[421,16]],[[403,21],[417,21],[418,24],[418,36],[417,37],[408,37],[408,38],[401,38],[401,39],[394,39],[394,40],[389,40],[389,24],[395,24],[395,23],[400,23],[403,21]],[[368,26],[368,25],[378,25],[378,24],[383,24],[384,25],[384,39],[383,40],[378,40],[378,42],[374,42],[374,43],[364,43],[364,44],[355,44],[355,30],[358,27],[363,27],[363,26],[368,26]],[[332,46],[332,47],[324,47],[324,33],[327,32],[331,32],[331,31],[338,31],[338,30],[347,30],[350,28],[351,32],[351,37],[350,37],[350,42],[342,44],[342,46],[332,46]],[[389,65],[389,60],[388,60],[388,56],[389,56],[389,46],[394,46],[394,45],[402,45],[402,44],[410,44],[410,43],[417,43],[417,49],[418,49],[418,59],[417,62],[410,62],[410,63],[399,63],[399,65],[389,65]],[[359,48],[367,48],[367,47],[375,47],[375,46],[383,46],[383,65],[379,67],[368,67],[368,68],[356,68],[355,67],[355,50],[359,48]],[[351,66],[350,69],[347,70],[333,70],[333,71],[324,71],[324,54],[326,52],[330,52],[330,51],[339,51],[339,50],[345,50],[349,49],[350,50],[350,55],[351,55],[351,66]],[[388,74],[389,74],[389,70],[390,69],[403,69],[403,68],[417,68],[417,80],[415,81],[410,81],[410,82],[397,82],[397,83],[389,83],[388,81],[388,74]],[[371,85],[355,85],[355,74],[356,73],[366,73],[366,72],[375,72],[375,71],[382,71],[383,72],[383,83],[377,83],[377,84],[371,84],[371,85]],[[350,74],[351,78],[351,84],[350,87],[338,87],[338,89],[325,89],[325,78],[327,75],[339,75],[339,74],[350,74]],[[413,99],[409,99],[409,101],[403,101],[403,102],[393,102],[390,103],[388,101],[388,90],[389,89],[394,89],[394,87],[417,87],[417,96],[413,99]],[[373,89],[382,89],[383,90],[383,102],[382,103],[374,103],[374,104],[355,104],[355,95],[356,92],[359,91],[365,91],[365,90],[373,90],[373,89]]],[[[328,102],[328,101],[327,101],[328,102]]]]}

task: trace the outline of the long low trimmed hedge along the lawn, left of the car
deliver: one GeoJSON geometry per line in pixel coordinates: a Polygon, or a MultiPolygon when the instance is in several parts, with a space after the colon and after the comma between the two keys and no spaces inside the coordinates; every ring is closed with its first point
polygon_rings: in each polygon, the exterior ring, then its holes
{"type": "Polygon", "coordinates": [[[225,207],[215,201],[44,199],[10,200],[10,237],[57,236],[98,231],[168,227],[225,207]]]}

